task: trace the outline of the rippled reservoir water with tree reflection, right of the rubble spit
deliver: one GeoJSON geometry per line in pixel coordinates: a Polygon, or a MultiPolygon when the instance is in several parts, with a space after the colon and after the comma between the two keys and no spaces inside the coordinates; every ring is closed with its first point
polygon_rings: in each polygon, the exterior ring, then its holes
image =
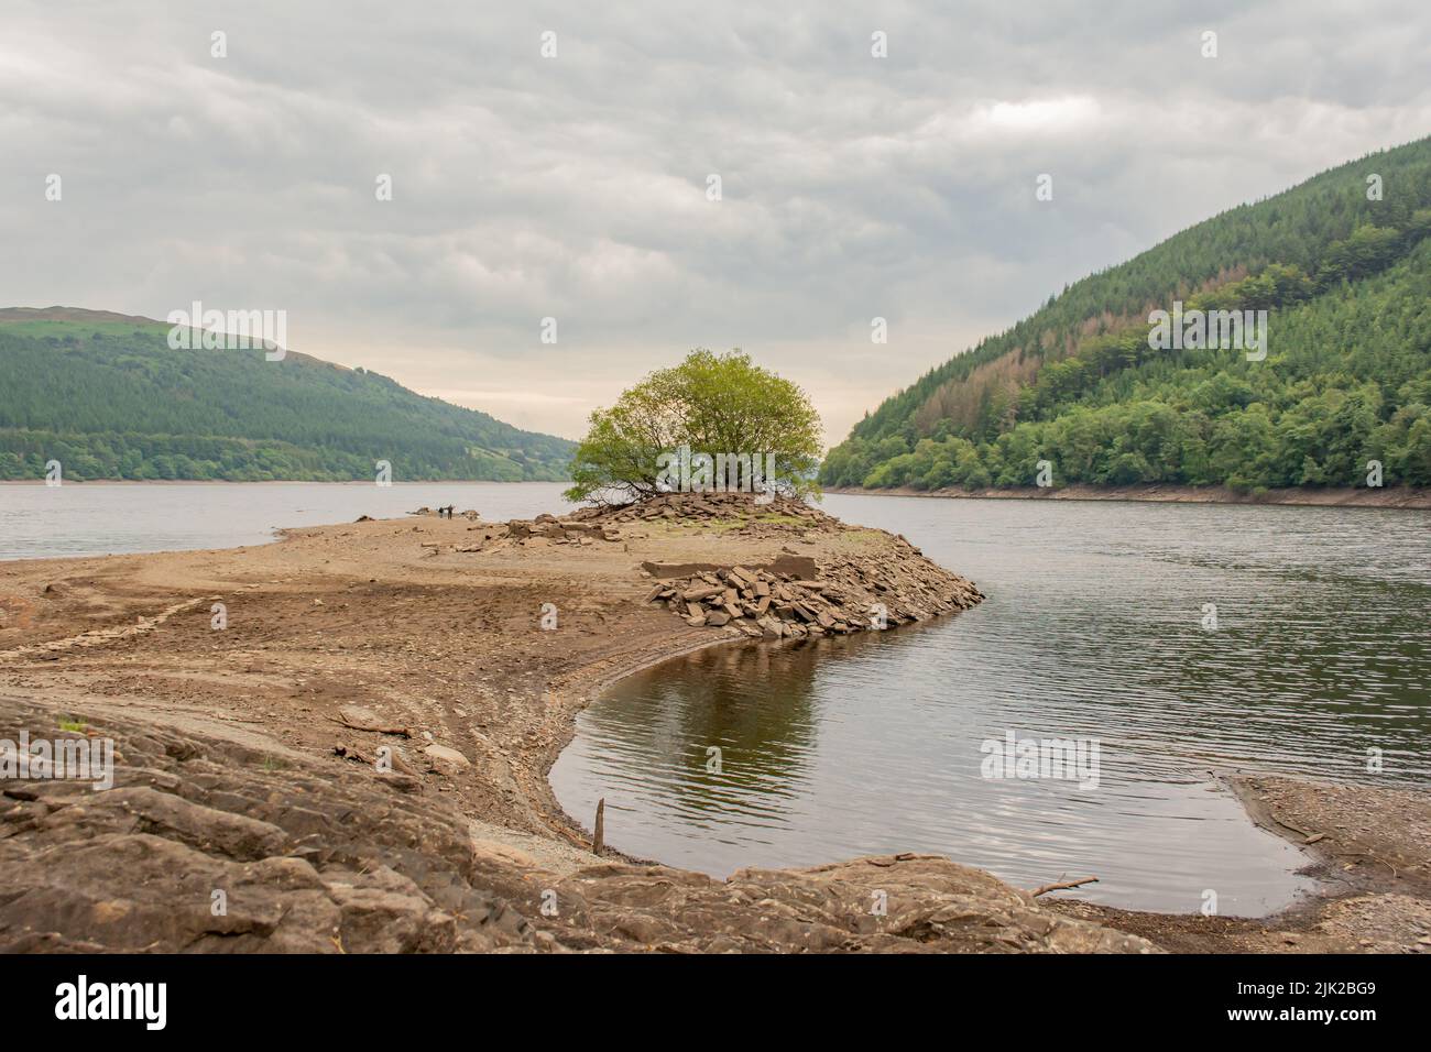
{"type": "Polygon", "coordinates": [[[989,600],[916,628],[750,644],[624,680],[551,781],[635,856],[726,875],[947,854],[1032,887],[1224,915],[1291,902],[1307,859],[1209,777],[1431,781],[1431,515],[830,497],[989,600]],[[1202,627],[1216,605],[1216,630],[1202,627]],[[980,746],[1096,739],[1096,787],[986,779],[980,746]],[[708,769],[718,747],[720,771],[708,769]],[[1382,773],[1368,771],[1379,749],[1382,773]]]}

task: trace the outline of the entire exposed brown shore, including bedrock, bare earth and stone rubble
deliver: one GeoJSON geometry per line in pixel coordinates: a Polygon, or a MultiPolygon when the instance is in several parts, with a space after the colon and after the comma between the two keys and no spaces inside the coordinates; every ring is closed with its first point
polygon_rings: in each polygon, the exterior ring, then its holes
{"type": "MultiPolygon", "coordinates": [[[[1076,916],[927,856],[726,882],[597,857],[551,796],[575,713],[620,676],[711,644],[831,646],[821,633],[876,628],[874,605],[896,627],[980,598],[903,538],[707,500],[0,564],[0,739],[117,750],[109,790],[0,780],[0,950],[1417,946],[1425,823],[1378,814],[1414,816],[1424,794],[1352,790],[1357,829],[1394,827],[1404,850],[1328,829],[1308,849],[1344,875],[1325,909],[1176,925],[1076,916]],[[1401,942],[1352,939],[1345,919],[1368,910],[1401,942]]],[[[1332,800],[1276,790],[1312,816],[1332,800]]]]}

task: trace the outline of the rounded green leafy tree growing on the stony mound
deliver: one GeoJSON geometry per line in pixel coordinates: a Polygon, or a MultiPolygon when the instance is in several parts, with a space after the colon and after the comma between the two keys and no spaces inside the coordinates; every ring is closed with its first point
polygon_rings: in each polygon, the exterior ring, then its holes
{"type": "Polygon", "coordinates": [[[628,502],[671,490],[751,488],[806,497],[819,494],[819,464],[820,415],[804,391],[738,349],[698,348],[591,414],[565,497],[628,502]]]}

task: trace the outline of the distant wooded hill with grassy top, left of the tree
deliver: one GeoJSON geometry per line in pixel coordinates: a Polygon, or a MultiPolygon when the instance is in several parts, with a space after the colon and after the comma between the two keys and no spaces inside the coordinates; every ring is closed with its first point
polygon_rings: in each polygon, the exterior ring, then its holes
{"type": "Polygon", "coordinates": [[[169,326],[0,309],[0,479],[562,481],[574,444],[288,352],[173,351],[169,326]]]}

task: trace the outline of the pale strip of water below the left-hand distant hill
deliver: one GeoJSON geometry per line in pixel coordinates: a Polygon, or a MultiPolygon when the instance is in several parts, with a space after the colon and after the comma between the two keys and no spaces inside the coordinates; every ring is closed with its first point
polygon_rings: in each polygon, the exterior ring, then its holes
{"type": "Polygon", "coordinates": [[[0,485],[0,560],[265,544],[282,527],[392,518],[424,505],[529,518],[564,507],[557,482],[222,482],[0,485]]]}

